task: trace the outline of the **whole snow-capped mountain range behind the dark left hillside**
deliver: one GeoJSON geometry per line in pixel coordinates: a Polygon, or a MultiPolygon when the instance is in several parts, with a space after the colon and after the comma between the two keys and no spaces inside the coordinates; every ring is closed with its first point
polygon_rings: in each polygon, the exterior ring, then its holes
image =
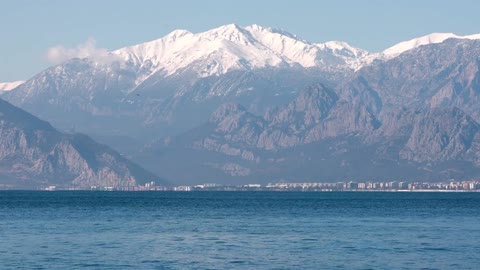
{"type": "Polygon", "coordinates": [[[480,35],[380,53],[225,25],[71,59],[2,98],[172,183],[478,175],[480,35]]]}

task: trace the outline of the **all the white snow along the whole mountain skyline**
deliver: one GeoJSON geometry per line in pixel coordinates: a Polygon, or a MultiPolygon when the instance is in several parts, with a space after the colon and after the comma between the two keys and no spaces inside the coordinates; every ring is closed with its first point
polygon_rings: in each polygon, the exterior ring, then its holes
{"type": "MultiPolygon", "coordinates": [[[[91,82],[88,88],[91,95],[94,92],[92,89],[108,88],[110,85],[116,85],[115,89],[122,85],[122,92],[130,93],[149,78],[151,80],[147,81],[147,85],[152,85],[157,80],[179,74],[205,78],[238,70],[313,68],[328,76],[341,74],[338,75],[341,77],[374,60],[392,59],[405,51],[449,38],[480,39],[480,34],[457,36],[434,33],[401,42],[380,53],[369,53],[340,41],[311,43],[285,30],[256,24],[246,27],[229,24],[201,33],[175,30],[157,40],[102,54],[103,58],[113,57],[114,61],[98,61],[98,56],[90,56],[90,63],[93,63],[89,69],[91,74],[85,75],[84,80],[91,82]],[[101,86],[101,80],[93,80],[95,76],[108,78],[107,86],[101,86]]],[[[64,68],[60,65],[49,72],[58,73],[59,76],[55,77],[58,79],[65,76],[60,76],[64,68]]],[[[71,74],[76,73],[76,70],[71,70],[71,74]]],[[[73,75],[68,78],[71,85],[78,79],[73,75]]],[[[21,83],[0,83],[0,91],[13,89],[21,83]]]]}

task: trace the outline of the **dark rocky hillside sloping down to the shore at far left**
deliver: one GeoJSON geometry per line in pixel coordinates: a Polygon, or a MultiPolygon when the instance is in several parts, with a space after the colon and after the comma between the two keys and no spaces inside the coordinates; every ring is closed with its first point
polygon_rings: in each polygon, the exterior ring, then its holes
{"type": "Polygon", "coordinates": [[[0,174],[6,184],[126,187],[159,178],[86,135],[63,134],[0,100],[0,174]]]}

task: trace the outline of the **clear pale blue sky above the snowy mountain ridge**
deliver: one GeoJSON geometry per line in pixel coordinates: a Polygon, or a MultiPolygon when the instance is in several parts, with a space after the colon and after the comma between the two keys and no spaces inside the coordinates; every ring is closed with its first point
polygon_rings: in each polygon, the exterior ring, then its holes
{"type": "Polygon", "coordinates": [[[479,11],[478,0],[0,0],[0,81],[28,79],[52,65],[48,48],[88,38],[113,50],[175,29],[256,23],[377,52],[433,32],[480,33],[479,11]]]}

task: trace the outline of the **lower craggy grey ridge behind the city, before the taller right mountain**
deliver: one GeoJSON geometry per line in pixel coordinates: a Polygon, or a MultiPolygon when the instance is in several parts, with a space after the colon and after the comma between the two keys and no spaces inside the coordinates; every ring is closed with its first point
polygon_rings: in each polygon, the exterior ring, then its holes
{"type": "Polygon", "coordinates": [[[480,126],[460,109],[402,109],[380,122],[365,108],[339,113],[335,97],[317,85],[264,117],[225,104],[208,123],[149,144],[135,158],[152,170],[168,164],[157,172],[181,183],[438,181],[480,173],[480,126]]]}

